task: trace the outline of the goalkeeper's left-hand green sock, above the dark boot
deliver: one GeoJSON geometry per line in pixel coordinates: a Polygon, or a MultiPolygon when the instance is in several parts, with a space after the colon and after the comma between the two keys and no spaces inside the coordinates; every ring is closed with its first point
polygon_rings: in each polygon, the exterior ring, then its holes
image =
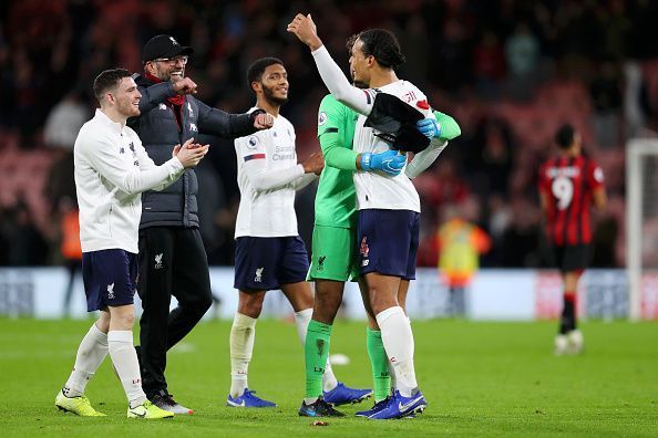
{"type": "MultiPolygon", "coordinates": [[[[322,374],[327,366],[329,345],[331,343],[330,324],[316,320],[308,323],[304,356],[306,362],[306,398],[317,398],[322,395],[322,374]]],[[[381,341],[380,341],[381,342],[381,341]]]]}

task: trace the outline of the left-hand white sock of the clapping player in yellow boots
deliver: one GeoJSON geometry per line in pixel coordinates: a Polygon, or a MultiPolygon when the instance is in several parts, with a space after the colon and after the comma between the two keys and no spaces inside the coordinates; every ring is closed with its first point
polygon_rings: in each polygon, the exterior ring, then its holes
{"type": "Polygon", "coordinates": [[[94,376],[106,355],[107,335],[99,330],[96,323],[93,323],[78,347],[73,372],[62,393],[66,397],[79,397],[84,394],[88,382],[94,376]]]}

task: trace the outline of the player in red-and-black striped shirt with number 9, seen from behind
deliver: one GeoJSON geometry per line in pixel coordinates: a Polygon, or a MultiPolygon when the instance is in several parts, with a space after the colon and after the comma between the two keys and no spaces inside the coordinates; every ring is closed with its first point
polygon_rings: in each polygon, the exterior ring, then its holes
{"type": "Polygon", "coordinates": [[[603,170],[582,154],[578,132],[564,125],[555,143],[559,154],[539,170],[539,198],[546,234],[564,282],[564,306],[555,337],[555,354],[562,355],[583,350],[583,334],[576,328],[576,290],[592,253],[590,210],[593,205],[599,211],[605,208],[606,191],[603,170]]]}

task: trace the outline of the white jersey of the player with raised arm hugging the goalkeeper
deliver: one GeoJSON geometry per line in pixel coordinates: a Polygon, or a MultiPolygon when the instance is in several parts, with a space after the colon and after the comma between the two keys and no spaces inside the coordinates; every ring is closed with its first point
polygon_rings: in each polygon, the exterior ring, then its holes
{"type": "MultiPolygon", "coordinates": [[[[364,98],[374,100],[378,92],[392,94],[424,114],[434,118],[426,105],[425,95],[412,83],[397,81],[377,90],[364,90],[364,98]]],[[[363,124],[368,117],[360,115],[354,131],[354,150],[358,153],[382,153],[391,144],[377,137],[378,132],[363,124]]],[[[407,167],[407,166],[405,166],[407,167]]],[[[398,176],[379,171],[356,171],[357,209],[411,210],[420,212],[420,198],[404,169],[398,176]]]]}

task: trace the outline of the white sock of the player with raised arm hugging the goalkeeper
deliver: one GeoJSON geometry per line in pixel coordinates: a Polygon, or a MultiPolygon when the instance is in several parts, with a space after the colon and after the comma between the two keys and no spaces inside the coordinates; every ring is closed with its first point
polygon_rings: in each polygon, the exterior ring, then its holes
{"type": "Polygon", "coordinates": [[[411,397],[418,387],[413,367],[413,333],[411,324],[400,306],[393,306],[376,315],[381,328],[381,340],[389,361],[393,365],[395,385],[400,394],[411,397]]]}

